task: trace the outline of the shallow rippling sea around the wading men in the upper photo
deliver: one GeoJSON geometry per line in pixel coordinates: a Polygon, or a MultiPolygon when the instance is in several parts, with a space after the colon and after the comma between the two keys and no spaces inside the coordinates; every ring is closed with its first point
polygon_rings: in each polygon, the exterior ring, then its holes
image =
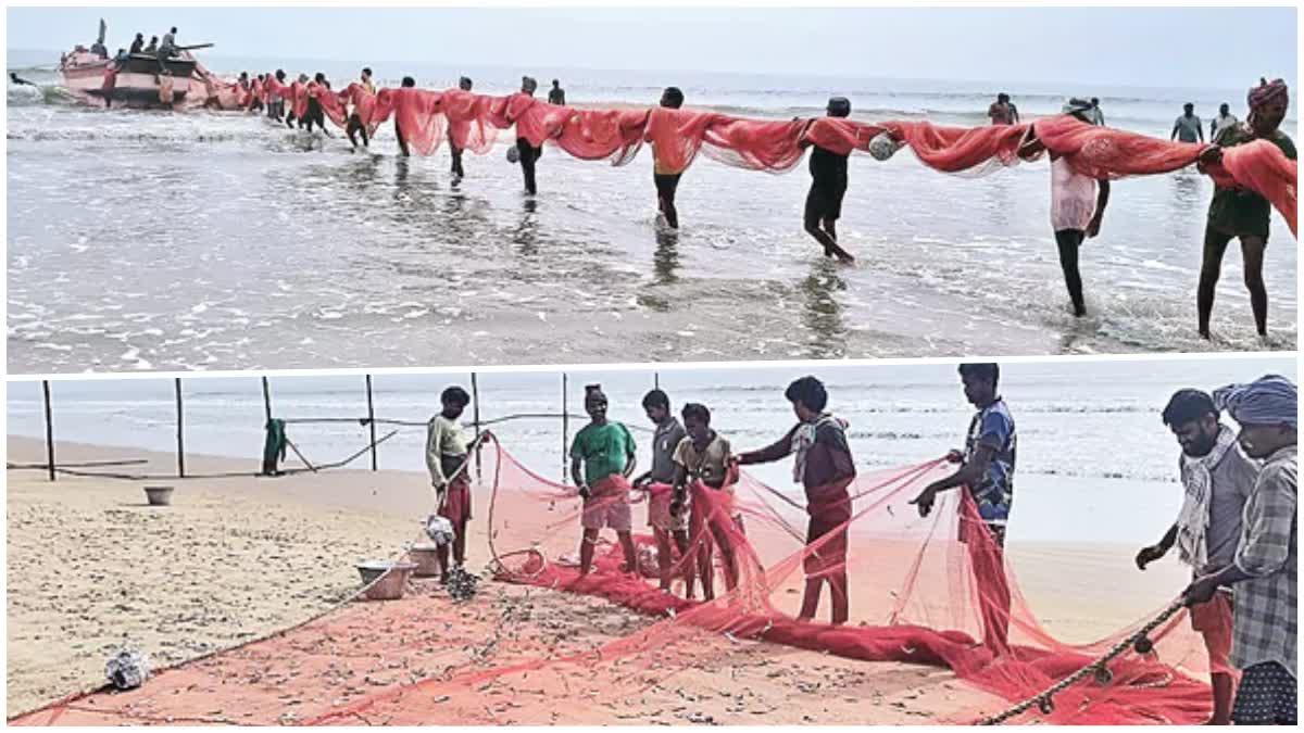
{"type": "MultiPolygon", "coordinates": [[[[214,59],[218,70],[257,70],[214,59]]],[[[287,68],[292,68],[287,64],[287,68]]],[[[325,70],[343,83],[353,64],[325,70]]],[[[442,87],[511,69],[385,69],[442,87]]],[[[682,232],[655,224],[648,151],[626,167],[548,150],[520,193],[499,145],[450,180],[443,150],[399,159],[393,130],[351,154],[240,113],[93,111],[56,74],[8,90],[8,368],[17,373],[539,364],[789,357],[1294,350],[1296,247],[1274,218],[1267,344],[1228,252],[1215,339],[1194,333],[1211,184],[1194,171],[1119,181],[1082,249],[1090,316],[1068,308],[1048,224],[1047,163],[985,177],[902,151],[854,157],[838,224],[853,267],[801,230],[808,176],[709,159],[679,187],[682,232]]],[[[561,72],[558,72],[561,73],[561,72]]],[[[541,78],[552,73],[540,72],[541,78]]],[[[995,85],[754,74],[567,72],[574,103],[983,124],[995,85]]],[[[1241,110],[1243,91],[1018,87],[1025,116],[1098,95],[1111,125],[1166,137],[1180,104],[1241,110]]],[[[1291,113],[1286,132],[1295,136],[1291,113]]],[[[506,141],[509,136],[502,136],[506,141]]]]}

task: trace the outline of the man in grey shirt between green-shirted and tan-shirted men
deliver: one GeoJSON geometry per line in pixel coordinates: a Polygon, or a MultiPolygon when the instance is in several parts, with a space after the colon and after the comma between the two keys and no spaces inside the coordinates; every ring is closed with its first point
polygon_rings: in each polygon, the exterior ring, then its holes
{"type": "MultiPolygon", "coordinates": [[[[652,433],[652,468],[634,480],[634,488],[651,490],[655,484],[657,493],[648,496],[648,527],[656,539],[657,569],[661,573],[661,590],[670,591],[670,563],[673,553],[670,537],[673,535],[681,554],[689,553],[689,522],[683,513],[670,511],[674,485],[674,451],[679,447],[687,433],[679,419],[670,411],[670,398],[661,390],[652,390],[643,395],[643,411],[648,420],[656,426],[652,433]]],[[[691,562],[685,562],[691,566],[691,562]]],[[[690,580],[691,584],[691,580],[690,580]]]]}

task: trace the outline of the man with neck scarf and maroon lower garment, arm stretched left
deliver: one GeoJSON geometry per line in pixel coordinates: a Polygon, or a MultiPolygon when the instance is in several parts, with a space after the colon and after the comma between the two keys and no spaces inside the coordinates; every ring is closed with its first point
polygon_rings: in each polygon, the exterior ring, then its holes
{"type": "Polygon", "coordinates": [[[828,391],[815,377],[802,377],[788,385],[784,396],[793,406],[797,425],[777,442],[738,456],[742,466],[771,463],[795,454],[793,480],[806,490],[806,513],[810,526],[807,550],[802,566],[806,592],[802,595],[799,618],[810,621],[819,609],[820,588],[827,582],[832,596],[832,621],[845,623],[850,617],[846,582],[848,524],[852,520],[852,497],[848,488],[855,479],[855,462],[846,442],[846,423],[824,411],[828,391]]]}

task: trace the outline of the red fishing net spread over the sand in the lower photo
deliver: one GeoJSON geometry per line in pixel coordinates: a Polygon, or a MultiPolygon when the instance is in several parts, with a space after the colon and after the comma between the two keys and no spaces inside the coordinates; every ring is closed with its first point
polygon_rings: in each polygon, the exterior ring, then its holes
{"type": "MultiPolygon", "coordinates": [[[[919,518],[908,503],[928,481],[948,471],[943,460],[862,473],[849,485],[812,492],[820,502],[814,514],[806,511],[805,497],[794,498],[746,473],[733,490],[695,490],[689,552],[674,550],[673,593],[657,590],[656,543],[640,531],[645,497],[631,498],[638,545],[635,571],[623,571],[622,548],[604,530],[595,569],[580,576],[576,558],[582,503],[575,490],[533,473],[493,438],[482,443],[473,464],[481,497],[477,503],[484,507],[477,510],[477,520],[488,522],[488,546],[472,546],[469,552],[473,560],[485,553],[493,558],[497,580],[597,596],[660,621],[582,652],[567,650],[557,639],[545,644],[514,636],[515,642],[509,644],[511,653],[498,657],[501,664],[455,665],[438,674],[404,673],[403,680],[364,687],[327,704],[326,691],[301,689],[323,685],[321,680],[329,670],[317,666],[326,664],[322,655],[327,647],[330,655],[374,657],[389,668],[402,664],[411,670],[416,659],[429,668],[429,659],[421,657],[421,639],[433,638],[441,625],[451,629],[437,617],[424,617],[420,608],[406,606],[408,601],[351,604],[299,630],[164,672],[138,693],[65,702],[16,723],[50,723],[55,715],[64,723],[83,724],[143,715],[181,720],[186,706],[213,707],[214,695],[235,700],[241,710],[257,711],[263,703],[273,710],[274,702],[287,694],[322,700],[303,708],[301,721],[306,723],[486,721],[479,706],[462,710],[449,700],[469,699],[468,695],[473,698],[473,693],[492,687],[494,695],[507,695],[510,703],[511,695],[526,695],[523,690],[537,685],[539,676],[529,678],[531,673],[546,670],[559,683],[574,678],[578,670],[595,666],[602,669],[602,685],[599,690],[585,687],[585,702],[615,700],[700,661],[707,648],[704,635],[775,644],[776,653],[788,646],[866,663],[947,668],[969,685],[1015,703],[1086,666],[1142,625],[1137,622],[1090,643],[1056,639],[1028,605],[1011,563],[964,492],[943,493],[927,518],[919,518]],[[823,527],[827,531],[807,543],[807,524],[829,522],[836,524],[823,527]],[[716,597],[686,600],[683,575],[690,569],[689,561],[703,552],[712,558],[716,597]],[[822,583],[836,580],[842,573],[849,578],[846,586],[822,583]],[[819,610],[815,618],[802,620],[798,608],[803,590],[811,583],[823,586],[819,610]],[[831,625],[825,620],[833,605],[832,595],[844,587],[849,621],[831,625]],[[377,605],[390,608],[360,610],[377,605]],[[364,623],[370,627],[363,642],[357,642],[356,634],[348,636],[364,623]],[[344,643],[347,638],[355,640],[356,648],[344,643]],[[265,665],[258,668],[259,678],[269,674],[269,660],[313,673],[296,672],[295,681],[279,680],[270,686],[226,686],[227,681],[254,674],[250,665],[256,663],[265,665]]],[[[666,486],[653,486],[651,493],[665,490],[666,486]]],[[[626,501],[626,497],[591,500],[589,510],[600,501],[626,501]]],[[[1101,593],[1108,590],[1102,588],[1101,593]]],[[[1149,638],[1154,647],[1148,653],[1128,650],[1110,663],[1110,680],[1088,677],[1059,693],[1048,715],[1034,711],[1015,720],[1028,721],[1033,716],[1059,724],[1204,720],[1210,711],[1209,687],[1204,682],[1208,656],[1187,614],[1168,620],[1149,638]]],[[[550,694],[558,698],[552,700],[556,704],[567,693],[557,689],[550,694]]],[[[995,712],[975,710],[951,723],[973,723],[995,712]]],[[[250,721],[270,723],[257,716],[250,721]]],[[[542,721],[546,720],[536,720],[542,721]]]]}

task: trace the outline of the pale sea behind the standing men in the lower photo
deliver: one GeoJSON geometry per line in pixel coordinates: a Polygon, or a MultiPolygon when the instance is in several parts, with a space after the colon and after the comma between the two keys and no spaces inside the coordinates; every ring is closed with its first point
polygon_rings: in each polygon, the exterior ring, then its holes
{"type": "MultiPolygon", "coordinates": [[[[584,385],[601,383],[610,417],[634,429],[639,463],[645,467],[651,425],[640,404],[655,383],[666,390],[675,410],[687,402],[707,404],[713,428],[735,450],[750,450],[778,440],[792,426],[784,387],[811,372],[828,385],[829,408],[849,420],[853,455],[862,471],[918,464],[962,445],[973,408],[949,364],[575,372],[567,374],[566,399],[571,413],[583,415],[584,385]]],[[[1295,378],[1296,364],[1252,355],[1004,365],[1000,391],[1018,430],[1011,540],[1153,543],[1176,515],[1181,498],[1175,483],[1179,449],[1159,417],[1168,396],[1181,387],[1214,389],[1265,373],[1295,378]]],[[[492,429],[527,467],[561,480],[565,438],[585,421],[572,417],[563,433],[561,373],[480,373],[477,382],[485,421],[550,415],[501,421],[492,429]]],[[[376,376],[376,413],[424,423],[439,410],[439,391],[450,383],[469,389],[469,374],[376,376]]],[[[270,385],[276,417],[366,415],[361,376],[275,377],[270,385]]],[[[40,385],[9,382],[8,390],[9,433],[43,437],[40,385]]],[[[56,381],[51,393],[56,440],[176,449],[171,380],[56,381]]],[[[258,468],[263,440],[258,378],[183,380],[183,399],[188,451],[240,458],[250,471],[258,468]]],[[[469,425],[472,416],[468,410],[464,423],[469,425]]],[[[378,434],[391,429],[381,425],[378,434]]],[[[379,467],[424,471],[424,426],[398,430],[378,446],[379,467]]],[[[343,459],[369,443],[357,423],[291,424],[288,433],[314,463],[343,459]]],[[[366,468],[368,462],[364,455],[351,468],[366,468]]],[[[755,467],[759,479],[799,497],[790,471],[790,462],[755,467]]]]}

